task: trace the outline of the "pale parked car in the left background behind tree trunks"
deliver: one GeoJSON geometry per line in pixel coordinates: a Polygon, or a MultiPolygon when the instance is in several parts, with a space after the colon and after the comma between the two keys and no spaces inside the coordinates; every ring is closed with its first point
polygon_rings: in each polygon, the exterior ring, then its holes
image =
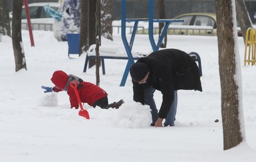
{"type": "MultiPolygon", "coordinates": [[[[49,5],[51,9],[57,11],[61,6],[60,3],[30,3],[29,13],[31,18],[31,24],[33,30],[53,30],[54,19],[47,15],[44,7],[49,5]]],[[[12,12],[9,13],[10,19],[12,19],[12,12]]],[[[21,13],[21,28],[27,30],[27,16],[25,6],[23,6],[21,13]]]]}

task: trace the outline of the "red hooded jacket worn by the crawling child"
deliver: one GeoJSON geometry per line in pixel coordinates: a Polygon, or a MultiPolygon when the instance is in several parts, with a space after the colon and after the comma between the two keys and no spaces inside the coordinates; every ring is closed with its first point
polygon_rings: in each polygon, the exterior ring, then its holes
{"type": "MultiPolygon", "coordinates": [[[[59,91],[67,91],[70,101],[70,108],[78,108],[78,101],[76,99],[74,89],[69,86],[69,83],[73,80],[74,78],[68,77],[64,71],[55,71],[53,73],[53,77],[51,78],[51,81],[55,84],[53,91],[57,93],[59,91]]],[[[108,95],[106,91],[92,83],[82,81],[80,84],[82,86],[78,89],[78,93],[80,95],[81,102],[86,102],[90,106],[93,106],[94,102],[108,95]]]]}

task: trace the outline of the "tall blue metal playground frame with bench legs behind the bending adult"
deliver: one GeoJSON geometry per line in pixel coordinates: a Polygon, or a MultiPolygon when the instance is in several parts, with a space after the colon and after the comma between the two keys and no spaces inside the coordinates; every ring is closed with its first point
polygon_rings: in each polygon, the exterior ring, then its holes
{"type": "MultiPolygon", "coordinates": [[[[122,42],[124,44],[124,48],[126,50],[126,54],[127,57],[123,56],[123,57],[111,57],[111,56],[100,56],[101,62],[102,62],[102,70],[103,70],[103,74],[105,73],[104,71],[104,58],[109,58],[109,59],[125,59],[128,60],[127,64],[126,64],[126,68],[124,70],[124,75],[122,77],[122,81],[120,83],[120,86],[124,86],[126,83],[126,79],[128,77],[128,73],[130,70],[130,66],[132,65],[132,63],[134,63],[134,59],[138,59],[138,58],[134,58],[132,56],[132,46],[134,44],[134,38],[136,35],[136,31],[138,28],[138,22],[140,21],[148,21],[148,36],[149,36],[149,40],[150,40],[150,44],[152,46],[152,50],[158,51],[162,41],[164,40],[164,36],[166,36],[166,32],[168,30],[168,26],[170,25],[171,22],[184,22],[184,20],[179,20],[179,19],[154,19],[154,0],[149,0],[149,5],[148,5],[148,19],[126,19],[126,0],[122,0],[121,1],[121,28],[122,28],[122,32],[121,32],[121,36],[122,36],[122,42]],[[130,42],[128,43],[128,40],[126,38],[126,22],[134,22],[134,27],[132,30],[132,34],[131,34],[131,38],[130,38],[130,42]],[[163,22],[164,23],[164,28],[162,30],[162,33],[160,34],[160,37],[158,38],[158,42],[155,42],[154,40],[154,26],[153,23],[154,22],[163,22]]],[[[90,50],[90,49],[89,49],[90,50]]],[[[84,72],[86,72],[86,68],[87,68],[87,63],[88,63],[88,55],[86,56],[86,61],[84,63],[84,72]]],[[[94,57],[94,56],[91,56],[94,57]]]]}

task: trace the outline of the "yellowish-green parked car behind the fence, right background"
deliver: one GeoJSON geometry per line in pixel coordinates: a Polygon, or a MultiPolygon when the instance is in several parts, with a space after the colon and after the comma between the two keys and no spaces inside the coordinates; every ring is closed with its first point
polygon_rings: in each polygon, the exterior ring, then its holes
{"type": "MultiPolygon", "coordinates": [[[[186,13],[174,19],[183,19],[184,22],[170,24],[168,34],[184,35],[217,35],[217,20],[215,13],[186,13]]],[[[241,36],[241,29],[237,28],[241,36]]]]}

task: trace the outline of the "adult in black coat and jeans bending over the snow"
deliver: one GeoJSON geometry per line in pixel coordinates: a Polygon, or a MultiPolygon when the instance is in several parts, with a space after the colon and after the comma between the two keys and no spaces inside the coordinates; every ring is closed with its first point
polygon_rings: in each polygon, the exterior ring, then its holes
{"type": "Polygon", "coordinates": [[[140,58],[130,67],[130,75],[134,101],[150,105],[152,126],[156,127],[162,127],[164,118],[167,119],[171,111],[172,116],[168,118],[172,118],[172,123],[166,121],[164,126],[174,126],[177,103],[173,104],[173,101],[176,100],[177,90],[202,91],[195,60],[186,52],[177,49],[159,50],[140,58]],[[159,113],[153,98],[156,89],[163,95],[159,113]]]}

